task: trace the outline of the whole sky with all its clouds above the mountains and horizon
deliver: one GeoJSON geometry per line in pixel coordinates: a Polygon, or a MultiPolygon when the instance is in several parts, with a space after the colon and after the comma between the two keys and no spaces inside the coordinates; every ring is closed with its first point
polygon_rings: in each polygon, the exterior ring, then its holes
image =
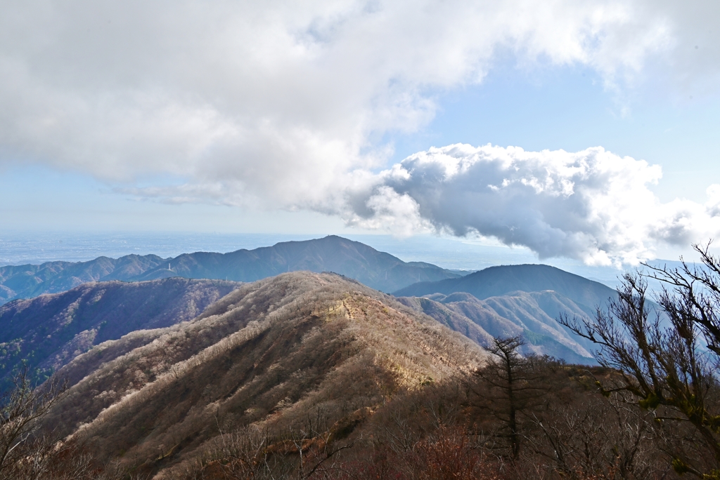
{"type": "Polygon", "coordinates": [[[0,229],[720,232],[714,1],[0,0],[0,229]]]}

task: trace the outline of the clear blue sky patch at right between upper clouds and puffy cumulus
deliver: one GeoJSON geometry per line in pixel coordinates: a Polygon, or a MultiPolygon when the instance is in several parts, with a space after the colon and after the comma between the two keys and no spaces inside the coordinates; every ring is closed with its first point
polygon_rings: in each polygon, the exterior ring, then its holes
{"type": "Polygon", "coordinates": [[[498,65],[481,85],[444,95],[426,129],[396,140],[395,158],[453,143],[571,152],[602,146],[660,165],[653,190],[662,200],[704,201],[720,179],[720,98],[681,98],[652,83],[624,93],[618,98],[588,68],[538,73],[498,65]]]}

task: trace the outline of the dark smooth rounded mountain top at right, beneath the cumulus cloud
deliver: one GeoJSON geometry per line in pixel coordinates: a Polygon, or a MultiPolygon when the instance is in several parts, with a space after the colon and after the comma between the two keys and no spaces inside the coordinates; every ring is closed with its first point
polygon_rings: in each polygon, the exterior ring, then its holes
{"type": "Polygon", "coordinates": [[[450,295],[467,292],[479,300],[500,297],[511,292],[543,292],[554,290],[572,300],[588,315],[595,307],[606,305],[617,292],[606,285],[580,277],[549,265],[501,265],[489,267],[464,277],[418,282],[394,292],[397,297],[422,297],[433,293],[450,295]]]}

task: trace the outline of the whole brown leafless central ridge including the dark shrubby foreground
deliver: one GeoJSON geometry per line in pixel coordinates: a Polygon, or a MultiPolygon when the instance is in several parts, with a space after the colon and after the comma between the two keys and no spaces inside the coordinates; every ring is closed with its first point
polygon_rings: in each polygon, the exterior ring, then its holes
{"type": "Polygon", "coordinates": [[[335,274],[282,274],[78,356],[25,444],[50,452],[47,480],[660,480],[677,458],[713,474],[694,424],[659,422],[627,370],[494,343],[335,274]]]}

